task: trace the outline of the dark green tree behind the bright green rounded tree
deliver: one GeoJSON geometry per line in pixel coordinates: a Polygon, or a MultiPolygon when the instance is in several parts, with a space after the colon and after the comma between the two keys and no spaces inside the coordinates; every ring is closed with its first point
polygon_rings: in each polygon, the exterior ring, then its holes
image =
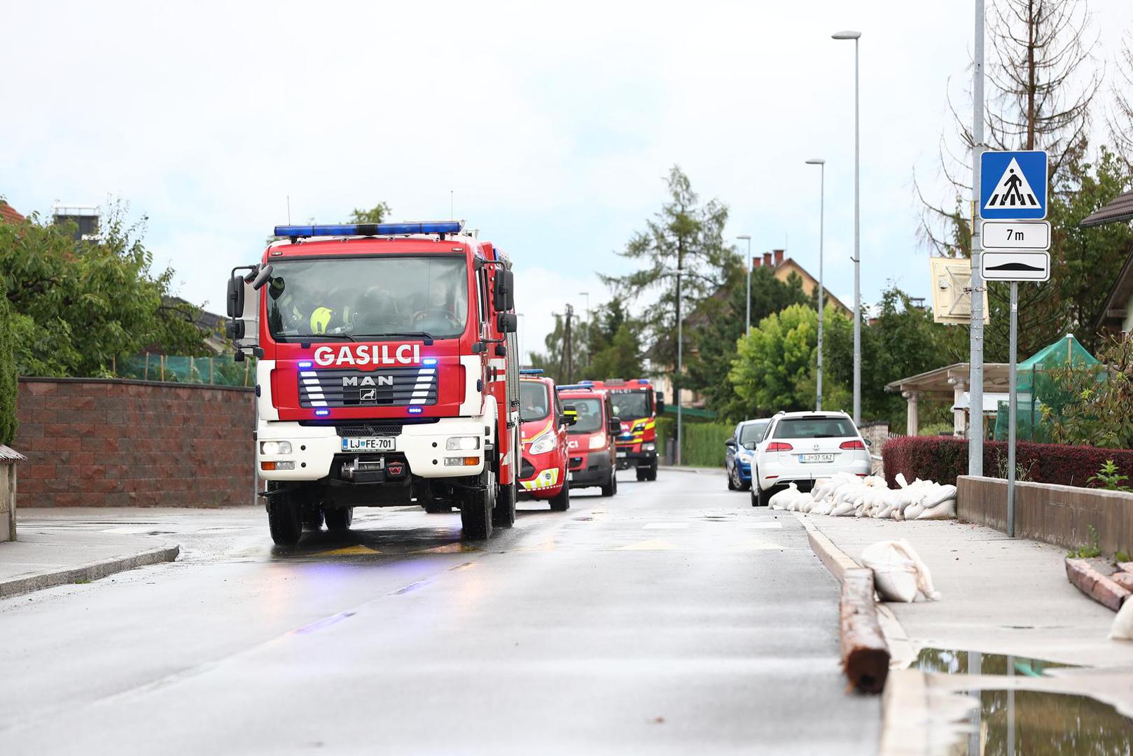
{"type": "MultiPolygon", "coordinates": [[[[775,278],[769,267],[751,271],[751,321],[758,324],[768,315],[791,305],[817,307],[802,291],[802,280],[792,273],[786,282],[775,278]]],[[[730,421],[750,416],[748,402],[740,398],[727,375],[735,359],[735,342],[743,335],[747,318],[748,282],[742,267],[715,296],[705,299],[689,317],[689,342],[695,349],[688,365],[689,388],[704,394],[709,409],[730,421]]],[[[817,289],[816,289],[817,295],[817,289]]]]}

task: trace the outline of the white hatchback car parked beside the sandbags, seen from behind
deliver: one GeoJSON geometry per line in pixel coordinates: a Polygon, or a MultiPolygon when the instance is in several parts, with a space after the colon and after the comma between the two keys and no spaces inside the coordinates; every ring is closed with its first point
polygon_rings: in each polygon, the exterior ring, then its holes
{"type": "Polygon", "coordinates": [[[866,477],[869,447],[845,413],[780,413],[756,447],[751,466],[751,506],[766,507],[789,483],[810,491],[816,478],[835,473],[866,477]]]}

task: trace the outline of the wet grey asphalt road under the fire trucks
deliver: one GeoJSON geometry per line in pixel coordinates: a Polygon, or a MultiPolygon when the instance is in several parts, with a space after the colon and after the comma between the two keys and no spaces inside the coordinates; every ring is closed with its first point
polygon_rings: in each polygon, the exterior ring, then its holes
{"type": "Polygon", "coordinates": [[[0,601],[0,753],[877,753],[795,519],[722,474],[620,487],[486,544],[414,508],[296,550],[254,508],[92,510],[182,555],[0,601]]]}

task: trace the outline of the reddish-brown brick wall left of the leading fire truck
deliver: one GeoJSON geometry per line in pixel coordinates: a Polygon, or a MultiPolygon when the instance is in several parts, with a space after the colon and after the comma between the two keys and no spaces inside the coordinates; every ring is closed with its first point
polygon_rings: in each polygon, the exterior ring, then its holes
{"type": "Polygon", "coordinates": [[[252,499],[253,391],[20,379],[19,507],[223,507],[252,499]]]}

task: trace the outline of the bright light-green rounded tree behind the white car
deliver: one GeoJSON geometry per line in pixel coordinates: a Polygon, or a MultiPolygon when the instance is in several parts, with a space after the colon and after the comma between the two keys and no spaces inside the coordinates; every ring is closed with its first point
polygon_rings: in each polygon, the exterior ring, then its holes
{"type": "MultiPolygon", "coordinates": [[[[849,331],[850,320],[827,306],[824,335],[849,331]]],[[[818,313],[795,304],[759,321],[736,342],[738,356],[727,374],[751,416],[795,411],[815,406],[813,369],[818,354],[818,313]]],[[[824,354],[828,354],[825,350],[824,354]]],[[[845,401],[845,384],[824,376],[823,406],[845,401]]]]}

